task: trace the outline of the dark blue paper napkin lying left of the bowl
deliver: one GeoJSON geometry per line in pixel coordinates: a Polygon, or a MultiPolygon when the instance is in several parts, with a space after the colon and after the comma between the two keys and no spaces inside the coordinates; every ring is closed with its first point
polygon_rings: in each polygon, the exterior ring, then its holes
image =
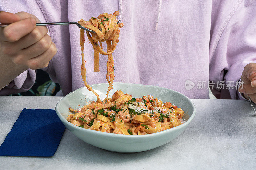
{"type": "Polygon", "coordinates": [[[0,146],[0,156],[53,156],[64,130],[55,110],[24,108],[0,146]]]}

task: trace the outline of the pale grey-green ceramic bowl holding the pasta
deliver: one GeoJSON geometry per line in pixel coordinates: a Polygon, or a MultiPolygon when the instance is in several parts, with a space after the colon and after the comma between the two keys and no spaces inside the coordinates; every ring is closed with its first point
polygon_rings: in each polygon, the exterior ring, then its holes
{"type": "MultiPolygon", "coordinates": [[[[95,84],[92,85],[92,88],[104,99],[108,83],[95,84]]],[[[89,92],[86,87],[77,89],[63,97],[56,105],[56,113],[68,130],[84,142],[109,151],[123,153],[147,151],[172,141],[185,130],[196,113],[196,107],[188,97],[170,89],[151,85],[113,83],[113,89],[109,96],[112,96],[116,90],[122,90],[124,94],[131,94],[132,97],[151,94],[154,98],[161,99],[163,102],[169,101],[184,110],[183,118],[186,122],[180,126],[147,135],[120,135],[78,127],[67,121],[67,115],[70,114],[68,108],[80,109],[83,105],[96,101],[95,95],[89,92]]]]}

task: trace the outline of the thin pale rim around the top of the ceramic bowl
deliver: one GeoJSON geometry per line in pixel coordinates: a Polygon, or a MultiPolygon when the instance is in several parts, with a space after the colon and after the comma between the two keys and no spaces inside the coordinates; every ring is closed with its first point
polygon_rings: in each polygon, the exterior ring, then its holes
{"type": "MultiPolygon", "coordinates": [[[[97,84],[93,84],[91,85],[91,87],[93,86],[96,86],[96,85],[103,85],[103,84],[108,84],[108,83],[97,83],[97,84]]],[[[137,85],[137,86],[146,86],[146,87],[157,87],[157,88],[161,88],[161,89],[164,89],[164,90],[168,90],[168,91],[173,91],[173,92],[177,92],[175,90],[172,90],[172,89],[168,89],[168,88],[164,88],[164,87],[159,87],[159,86],[153,86],[153,85],[143,85],[143,84],[135,84],[135,83],[123,83],[123,82],[113,82],[113,85],[114,84],[125,84],[125,85],[137,85]]],[[[73,92],[70,92],[68,93],[66,96],[64,97],[68,97],[70,96],[71,94],[73,94],[74,92],[76,91],[79,91],[81,89],[84,89],[84,88],[87,88],[86,86],[84,87],[81,87],[79,89],[76,89],[74,90],[73,92]]],[[[115,133],[102,133],[100,131],[96,131],[96,130],[90,130],[90,129],[85,129],[85,128],[81,128],[81,127],[78,127],[72,123],[70,123],[69,125],[76,128],[77,130],[84,130],[85,132],[91,132],[91,133],[96,133],[98,135],[102,135],[102,136],[108,136],[108,137],[123,137],[123,138],[143,138],[143,137],[152,137],[152,136],[158,136],[158,135],[163,135],[164,133],[168,133],[168,132],[171,132],[171,131],[175,131],[176,129],[182,129],[182,127],[185,127],[188,126],[188,124],[193,120],[193,118],[195,117],[195,114],[196,114],[196,107],[195,107],[195,104],[187,97],[185,96],[184,94],[180,93],[180,92],[177,92],[178,94],[180,94],[181,96],[185,97],[188,99],[188,101],[191,103],[192,107],[193,107],[193,113],[192,115],[189,117],[189,119],[179,125],[179,126],[176,126],[176,127],[173,127],[173,128],[170,128],[170,129],[166,129],[166,130],[163,130],[161,132],[156,132],[156,133],[151,133],[151,134],[147,134],[147,135],[123,135],[123,134],[115,134],[115,133]]],[[[60,105],[60,102],[64,99],[61,98],[60,101],[58,101],[58,103],[56,104],[55,106],[55,112],[56,114],[58,115],[58,117],[60,118],[60,120],[63,122],[63,121],[67,121],[67,119],[63,118],[63,116],[60,115],[60,112],[58,111],[57,107],[60,105]]],[[[184,128],[184,129],[185,129],[184,128]]]]}

